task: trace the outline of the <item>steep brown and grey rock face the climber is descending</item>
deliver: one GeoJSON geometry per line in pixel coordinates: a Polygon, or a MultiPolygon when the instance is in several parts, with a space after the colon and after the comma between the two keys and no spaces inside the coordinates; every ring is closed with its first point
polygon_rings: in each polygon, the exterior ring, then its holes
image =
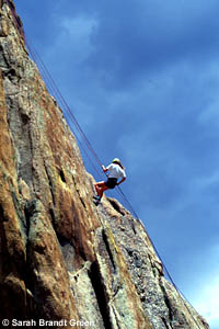
{"type": "Polygon", "coordinates": [[[93,179],[28,58],[14,4],[0,5],[0,320],[209,328],[164,279],[141,223],[116,200],[93,204],[93,179]]]}

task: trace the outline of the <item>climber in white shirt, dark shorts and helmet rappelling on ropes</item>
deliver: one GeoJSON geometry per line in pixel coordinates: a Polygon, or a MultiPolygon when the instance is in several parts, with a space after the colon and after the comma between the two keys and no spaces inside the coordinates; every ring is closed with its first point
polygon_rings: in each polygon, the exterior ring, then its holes
{"type": "Polygon", "coordinates": [[[102,181],[94,184],[97,194],[94,196],[94,203],[96,205],[100,203],[104,191],[114,189],[116,185],[119,185],[126,180],[125,168],[117,158],[115,158],[106,168],[102,166],[102,169],[104,172],[110,171],[110,174],[107,177],[107,181],[102,181]],[[118,179],[120,179],[120,181],[118,181],[118,179]]]}

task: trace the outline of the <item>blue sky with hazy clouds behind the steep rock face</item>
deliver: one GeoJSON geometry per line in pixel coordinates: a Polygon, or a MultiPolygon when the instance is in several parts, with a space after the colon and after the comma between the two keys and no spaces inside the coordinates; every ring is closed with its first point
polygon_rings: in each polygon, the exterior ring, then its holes
{"type": "Polygon", "coordinates": [[[122,190],[176,285],[218,329],[219,2],[14,3],[100,159],[124,162],[122,190]]]}

